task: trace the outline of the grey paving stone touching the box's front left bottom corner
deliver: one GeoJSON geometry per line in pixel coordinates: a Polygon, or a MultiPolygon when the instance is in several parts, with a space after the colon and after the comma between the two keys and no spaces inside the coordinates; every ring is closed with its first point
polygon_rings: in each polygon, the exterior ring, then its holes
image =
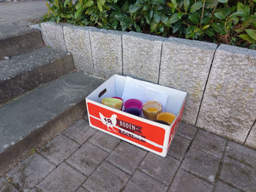
{"type": "Polygon", "coordinates": [[[83,144],[87,139],[89,139],[93,134],[97,132],[97,129],[91,128],[89,123],[81,119],[74,123],[72,126],[64,131],[64,135],[74,139],[79,144],[83,144]]]}

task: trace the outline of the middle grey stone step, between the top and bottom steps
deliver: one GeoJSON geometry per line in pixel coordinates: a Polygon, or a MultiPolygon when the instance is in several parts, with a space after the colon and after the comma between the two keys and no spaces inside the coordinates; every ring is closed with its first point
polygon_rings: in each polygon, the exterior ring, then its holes
{"type": "Polygon", "coordinates": [[[0,60],[0,105],[74,69],[72,55],[42,47],[0,60]]]}

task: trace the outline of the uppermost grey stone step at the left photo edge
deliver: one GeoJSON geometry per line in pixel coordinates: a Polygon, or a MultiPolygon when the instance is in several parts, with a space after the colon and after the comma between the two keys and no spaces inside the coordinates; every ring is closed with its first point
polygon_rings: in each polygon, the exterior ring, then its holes
{"type": "Polygon", "coordinates": [[[41,32],[26,26],[0,28],[0,59],[18,55],[43,46],[41,32]]]}

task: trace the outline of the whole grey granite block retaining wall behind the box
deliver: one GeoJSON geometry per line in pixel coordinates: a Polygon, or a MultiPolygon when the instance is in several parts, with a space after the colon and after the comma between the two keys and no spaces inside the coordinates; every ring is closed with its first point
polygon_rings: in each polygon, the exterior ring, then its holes
{"type": "Polygon", "coordinates": [[[94,27],[41,26],[45,44],[66,48],[78,70],[187,91],[184,122],[256,148],[256,50],[94,27]]]}

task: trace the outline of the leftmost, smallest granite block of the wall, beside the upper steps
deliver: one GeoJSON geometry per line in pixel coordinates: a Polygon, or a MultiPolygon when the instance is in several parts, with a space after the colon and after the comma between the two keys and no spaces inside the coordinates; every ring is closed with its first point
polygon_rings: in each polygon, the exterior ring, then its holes
{"type": "Polygon", "coordinates": [[[45,45],[53,47],[53,49],[67,51],[63,34],[63,26],[64,24],[61,23],[41,23],[42,39],[44,40],[45,45]]]}

